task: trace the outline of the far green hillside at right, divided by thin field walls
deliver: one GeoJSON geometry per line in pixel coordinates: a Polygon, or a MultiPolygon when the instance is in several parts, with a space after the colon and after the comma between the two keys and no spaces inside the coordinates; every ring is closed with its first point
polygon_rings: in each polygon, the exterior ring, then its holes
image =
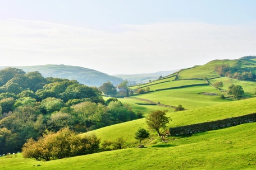
{"type": "Polygon", "coordinates": [[[214,70],[216,65],[228,64],[236,65],[240,69],[254,72],[256,68],[254,60],[213,60],[204,65],[198,65],[193,68],[182,69],[157,81],[150,83],[137,84],[129,87],[136,90],[139,88],[150,88],[150,93],[136,95],[136,98],[144,98],[153,102],[160,102],[165,105],[178,106],[182,105],[185,108],[198,108],[204,106],[217,105],[220,103],[230,102],[232,100],[223,100],[220,95],[228,97],[227,89],[231,84],[240,85],[243,87],[244,97],[255,96],[255,82],[239,81],[237,79],[220,77],[214,70]],[[249,69],[249,70],[248,70],[249,69]],[[223,82],[222,91],[209,86],[198,86],[198,84],[207,83],[204,79],[209,79],[209,83],[223,82]],[[168,89],[169,88],[169,89],[168,89]],[[165,89],[163,91],[159,91],[165,89]]]}

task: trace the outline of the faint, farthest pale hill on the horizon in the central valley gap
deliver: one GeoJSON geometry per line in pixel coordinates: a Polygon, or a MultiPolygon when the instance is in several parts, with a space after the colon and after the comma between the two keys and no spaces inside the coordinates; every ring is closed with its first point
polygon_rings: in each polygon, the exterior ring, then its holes
{"type": "Polygon", "coordinates": [[[127,79],[127,81],[129,81],[131,84],[138,84],[138,83],[147,83],[149,80],[151,80],[151,81],[157,80],[161,75],[162,75],[162,77],[165,77],[167,75],[170,75],[170,74],[176,72],[177,70],[179,70],[179,69],[156,72],[156,73],[116,74],[113,76],[119,77],[122,79],[127,79]]]}

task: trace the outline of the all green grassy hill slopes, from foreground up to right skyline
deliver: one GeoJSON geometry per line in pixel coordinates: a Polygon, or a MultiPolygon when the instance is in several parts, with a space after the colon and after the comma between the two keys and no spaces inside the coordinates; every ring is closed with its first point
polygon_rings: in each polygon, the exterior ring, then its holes
{"type": "MultiPolygon", "coordinates": [[[[156,81],[130,86],[131,90],[150,88],[149,92],[118,98],[146,117],[152,110],[167,109],[172,118],[169,128],[226,119],[256,112],[255,81],[220,75],[216,65],[230,65],[237,72],[255,74],[255,59],[213,60],[205,65],[181,69],[156,81]],[[223,82],[223,87],[214,83],[223,82]],[[227,93],[231,84],[244,89],[243,100],[227,93]],[[224,95],[225,98],[221,98],[224,95]],[[145,105],[156,103],[156,105],[145,105]],[[172,106],[185,111],[175,112],[172,106]]],[[[107,97],[104,97],[106,100],[107,97]]],[[[100,152],[79,157],[38,162],[20,154],[0,158],[1,169],[256,169],[256,122],[217,129],[190,136],[164,136],[150,130],[150,138],[137,148],[134,136],[141,127],[148,129],[145,118],[90,131],[102,141],[123,138],[126,149],[100,152]],[[36,167],[37,165],[40,165],[36,167]]],[[[80,135],[84,135],[80,134],[80,135]]]]}

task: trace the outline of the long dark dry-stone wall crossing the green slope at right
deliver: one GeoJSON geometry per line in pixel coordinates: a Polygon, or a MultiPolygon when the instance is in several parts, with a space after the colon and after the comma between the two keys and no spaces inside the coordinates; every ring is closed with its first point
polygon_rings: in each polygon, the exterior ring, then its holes
{"type": "Polygon", "coordinates": [[[255,121],[256,121],[256,113],[244,115],[244,116],[238,116],[238,117],[231,117],[231,118],[222,119],[222,120],[170,128],[170,135],[172,136],[188,135],[188,134],[199,133],[202,131],[227,128],[230,126],[246,124],[246,123],[255,122],[255,121]]]}

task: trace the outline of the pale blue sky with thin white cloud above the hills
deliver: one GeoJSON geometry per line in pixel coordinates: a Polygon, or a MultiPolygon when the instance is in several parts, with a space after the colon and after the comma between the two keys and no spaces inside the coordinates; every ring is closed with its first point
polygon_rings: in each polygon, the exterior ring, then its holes
{"type": "Polygon", "coordinates": [[[153,73],[256,55],[252,0],[0,0],[0,66],[153,73]]]}

